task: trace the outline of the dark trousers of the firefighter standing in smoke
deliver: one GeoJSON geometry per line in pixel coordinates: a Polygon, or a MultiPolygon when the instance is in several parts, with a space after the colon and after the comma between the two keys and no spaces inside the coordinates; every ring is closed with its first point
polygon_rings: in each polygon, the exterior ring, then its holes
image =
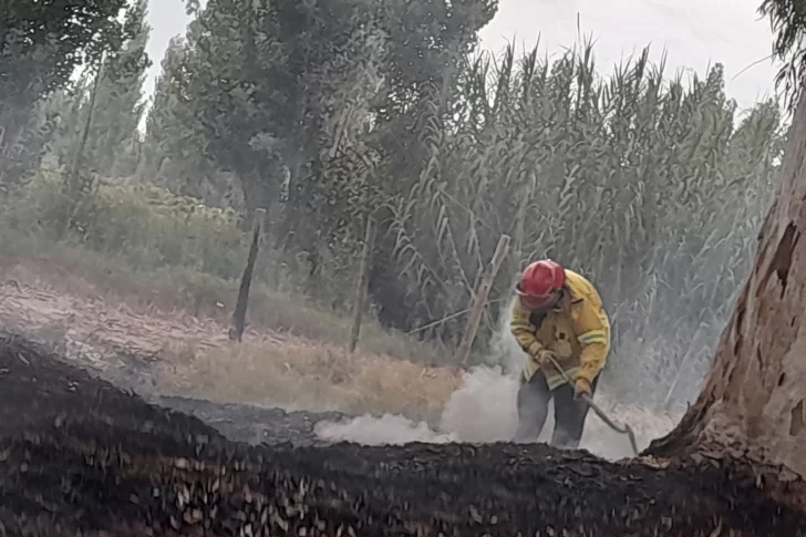
{"type": "MultiPolygon", "coordinates": [[[[599,382],[597,375],[591,382],[591,394],[596,393],[599,382]]],[[[556,447],[576,448],[582,438],[585,419],[588,416],[588,404],[581,399],[574,399],[574,386],[568,383],[555,389],[548,389],[542,371],[537,371],[529,380],[524,382],[521,376],[518,390],[518,430],[515,442],[536,442],[542,431],[548,416],[548,402],[555,402],[555,430],[551,435],[551,445],[556,447]]]]}

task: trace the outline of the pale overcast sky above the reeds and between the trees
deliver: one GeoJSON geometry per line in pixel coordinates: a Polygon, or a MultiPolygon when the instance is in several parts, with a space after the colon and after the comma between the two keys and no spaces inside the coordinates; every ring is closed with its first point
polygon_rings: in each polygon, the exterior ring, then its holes
{"type": "MultiPolygon", "coordinates": [[[[188,22],[182,0],[149,1],[154,65],[147,92],[168,40],[184,33],[188,22]]],[[[654,60],[665,49],[669,74],[676,69],[702,74],[709,63],[721,62],[727,95],[747,107],[774,90],[775,66],[765,60],[773,38],[768,22],[756,13],[758,4],[761,0],[502,0],[482,31],[482,45],[498,51],[514,42],[530,49],[540,35],[540,53],[557,54],[578,42],[579,13],[582,34],[597,41],[600,69],[610,72],[648,44],[654,60]]]]}

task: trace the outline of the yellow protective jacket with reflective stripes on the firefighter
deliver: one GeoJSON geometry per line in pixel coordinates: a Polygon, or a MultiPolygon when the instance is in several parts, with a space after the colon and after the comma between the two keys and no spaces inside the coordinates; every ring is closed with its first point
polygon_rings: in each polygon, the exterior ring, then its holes
{"type": "Polygon", "coordinates": [[[542,368],[550,390],[566,381],[550,363],[539,364],[542,350],[552,351],[557,362],[571,380],[589,383],[604,365],[610,351],[610,320],[593,285],[572,270],[565,270],[570,307],[548,311],[542,320],[515,297],[510,307],[509,328],[520,348],[528,354],[524,380],[528,382],[542,368]]]}

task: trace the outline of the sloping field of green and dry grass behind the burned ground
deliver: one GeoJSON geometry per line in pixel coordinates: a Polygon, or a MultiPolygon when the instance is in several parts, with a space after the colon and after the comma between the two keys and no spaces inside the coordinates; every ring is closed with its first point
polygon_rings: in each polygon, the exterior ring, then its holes
{"type": "Polygon", "coordinates": [[[434,420],[461,383],[459,370],[436,349],[372,320],[351,354],[349,319],[265,288],[254,290],[245,341],[234,344],[226,333],[237,282],[186,269],[134,271],[85,248],[43,239],[7,240],[1,247],[1,279],[29,318],[37,312],[49,312],[51,323],[70,318],[62,331],[84,340],[103,340],[116,327],[125,333],[117,339],[135,352],[156,351],[153,376],[162,393],[434,420]]]}

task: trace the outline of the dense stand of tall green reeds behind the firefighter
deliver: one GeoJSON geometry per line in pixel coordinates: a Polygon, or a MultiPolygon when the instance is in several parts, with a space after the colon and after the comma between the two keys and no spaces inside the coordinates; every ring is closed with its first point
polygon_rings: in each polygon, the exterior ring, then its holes
{"type": "Polygon", "coordinates": [[[690,347],[707,351],[733,309],[783,134],[774,101],[738,113],[721,65],[685,84],[648,58],[607,78],[589,44],[552,63],[469,59],[451,116],[424,122],[432,157],[394,234],[411,295],[437,318],[466,306],[500,234],[514,254],[493,299],[536,257],[581,271],[613,321],[611,382],[654,403],[681,364],[678,396],[698,392],[710,353],[690,347]]]}

